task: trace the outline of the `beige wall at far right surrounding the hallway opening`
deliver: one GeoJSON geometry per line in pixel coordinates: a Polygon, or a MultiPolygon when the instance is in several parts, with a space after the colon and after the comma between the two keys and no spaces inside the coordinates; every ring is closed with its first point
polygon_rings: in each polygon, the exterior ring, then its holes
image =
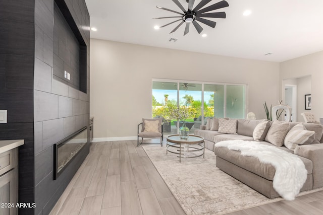
{"type": "MultiPolygon", "coordinates": [[[[311,76],[312,109],[306,112],[314,113],[316,119],[323,117],[323,51],[291,59],[280,63],[281,81],[311,76]]],[[[300,95],[304,97],[304,95],[300,95]]],[[[305,110],[304,110],[305,111],[305,110]]],[[[300,117],[300,116],[299,116],[300,117]]],[[[298,121],[302,121],[298,118],[298,121]]]]}

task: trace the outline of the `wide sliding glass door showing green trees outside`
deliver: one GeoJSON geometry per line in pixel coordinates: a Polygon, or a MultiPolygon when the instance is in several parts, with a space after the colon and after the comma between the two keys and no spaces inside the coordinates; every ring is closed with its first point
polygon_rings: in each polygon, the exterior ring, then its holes
{"type": "Polygon", "coordinates": [[[152,117],[164,118],[164,133],[176,134],[182,125],[171,111],[185,106],[193,114],[186,118],[190,133],[209,117],[241,119],[246,115],[246,85],[209,84],[185,81],[152,82],[152,117]]]}

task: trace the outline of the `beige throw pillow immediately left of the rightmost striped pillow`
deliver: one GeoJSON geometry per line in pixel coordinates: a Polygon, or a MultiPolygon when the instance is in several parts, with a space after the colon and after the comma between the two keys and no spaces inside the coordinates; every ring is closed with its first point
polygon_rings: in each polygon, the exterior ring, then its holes
{"type": "Polygon", "coordinates": [[[281,147],[284,144],[284,138],[289,131],[290,124],[288,122],[274,121],[269,128],[264,140],[271,144],[281,147]]]}

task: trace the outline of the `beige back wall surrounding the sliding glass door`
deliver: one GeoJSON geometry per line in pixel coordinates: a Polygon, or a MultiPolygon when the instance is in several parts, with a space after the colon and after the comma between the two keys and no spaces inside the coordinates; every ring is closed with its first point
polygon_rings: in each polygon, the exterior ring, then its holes
{"type": "Polygon", "coordinates": [[[248,85],[248,111],[280,98],[279,63],[91,39],[90,115],[94,140],[127,139],[151,117],[152,79],[248,85]],[[116,138],[114,138],[116,137],[116,138]]]}

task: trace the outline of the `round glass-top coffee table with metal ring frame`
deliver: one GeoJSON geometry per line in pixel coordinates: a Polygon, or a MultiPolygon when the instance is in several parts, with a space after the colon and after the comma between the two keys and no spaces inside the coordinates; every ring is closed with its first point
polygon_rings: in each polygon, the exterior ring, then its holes
{"type": "Polygon", "coordinates": [[[196,158],[203,156],[205,152],[204,138],[197,135],[189,135],[187,139],[181,139],[179,134],[169,135],[167,137],[166,154],[174,153],[181,158],[196,158]],[[187,145],[187,146],[186,146],[187,145]]]}

